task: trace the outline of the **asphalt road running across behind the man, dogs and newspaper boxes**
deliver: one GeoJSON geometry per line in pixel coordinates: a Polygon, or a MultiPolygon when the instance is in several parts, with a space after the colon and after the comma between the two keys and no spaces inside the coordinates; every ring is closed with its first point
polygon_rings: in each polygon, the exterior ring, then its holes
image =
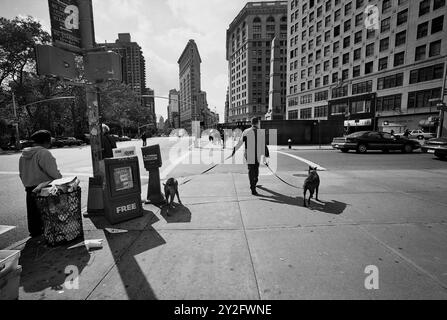
{"type": "MultiPolygon", "coordinates": [[[[176,177],[182,181],[193,179],[202,172],[213,167],[213,163],[223,162],[231,153],[231,148],[225,152],[222,149],[204,144],[200,149],[190,147],[190,141],[156,138],[148,140],[151,144],[160,144],[163,157],[161,177],[176,177]],[[214,161],[213,161],[214,160],[214,161]],[[188,178],[187,178],[188,177],[188,178]]],[[[140,141],[120,143],[119,147],[141,147],[140,141]]],[[[82,204],[87,204],[88,178],[91,176],[90,148],[66,148],[52,150],[59,168],[64,176],[78,176],[83,188],[82,204]]],[[[143,196],[147,190],[147,173],[144,170],[140,154],[140,169],[142,172],[143,196]]],[[[240,155],[240,154],[239,154],[240,155]]],[[[0,235],[0,248],[5,248],[14,242],[28,236],[26,222],[25,192],[18,176],[18,162],[20,155],[0,155],[0,225],[14,226],[14,230],[0,235]]],[[[239,157],[240,159],[241,157],[239,157]]],[[[335,150],[279,150],[273,152],[271,167],[277,172],[297,172],[297,175],[305,174],[309,165],[316,165],[328,171],[371,171],[384,170],[429,170],[445,169],[447,162],[437,160],[433,155],[415,152],[413,154],[401,153],[374,153],[365,155],[356,153],[343,154],[335,150]]],[[[245,173],[246,166],[228,162],[215,167],[210,172],[214,173],[245,173]]],[[[261,168],[261,175],[267,174],[265,167],[261,168]]],[[[262,179],[262,177],[261,177],[262,179]]],[[[392,176],[389,179],[393,179],[392,176]]],[[[280,182],[278,182],[280,183],[280,182]]]]}

